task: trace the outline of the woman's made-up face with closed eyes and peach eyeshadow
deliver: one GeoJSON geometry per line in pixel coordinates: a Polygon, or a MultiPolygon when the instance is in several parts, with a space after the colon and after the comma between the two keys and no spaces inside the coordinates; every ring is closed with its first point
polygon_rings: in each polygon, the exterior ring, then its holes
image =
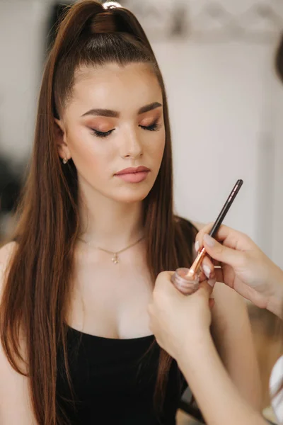
{"type": "Polygon", "coordinates": [[[79,185],[123,203],[146,198],[164,152],[162,103],[149,64],[81,68],[57,121],[60,157],[73,159],[79,185]]]}

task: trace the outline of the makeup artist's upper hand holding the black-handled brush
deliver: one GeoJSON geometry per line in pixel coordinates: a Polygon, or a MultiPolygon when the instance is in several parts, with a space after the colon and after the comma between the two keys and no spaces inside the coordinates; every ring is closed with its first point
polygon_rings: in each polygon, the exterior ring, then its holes
{"type": "Polygon", "coordinates": [[[216,237],[219,243],[209,237],[211,227],[207,225],[197,234],[196,250],[204,246],[207,254],[221,263],[221,269],[214,270],[206,256],[202,263],[206,276],[216,277],[253,304],[282,317],[283,271],[246,234],[221,226],[216,237]]]}

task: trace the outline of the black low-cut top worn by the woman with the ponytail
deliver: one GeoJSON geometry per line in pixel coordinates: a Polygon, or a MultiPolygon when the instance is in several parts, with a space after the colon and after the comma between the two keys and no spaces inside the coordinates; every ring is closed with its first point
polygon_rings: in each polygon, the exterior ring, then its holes
{"type": "MultiPolygon", "coordinates": [[[[197,230],[183,220],[188,242],[197,230]]],[[[72,397],[58,353],[57,407],[73,425],[175,425],[186,383],[173,361],[161,414],[154,407],[160,348],[154,336],[108,339],[67,328],[72,397]],[[149,348],[152,346],[151,350],[149,348]],[[70,400],[76,400],[71,402],[70,400]]]]}

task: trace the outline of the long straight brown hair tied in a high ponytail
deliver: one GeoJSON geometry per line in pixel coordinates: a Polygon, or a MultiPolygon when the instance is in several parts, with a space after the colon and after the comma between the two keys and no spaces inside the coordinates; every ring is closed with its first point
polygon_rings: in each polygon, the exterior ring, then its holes
{"type": "MultiPolygon", "coordinates": [[[[60,116],[71,98],[76,69],[82,64],[107,62],[151,64],[163,92],[166,146],[154,187],[144,200],[152,279],[161,271],[189,265],[192,260],[192,238],[186,240],[173,215],[166,91],[149,40],[137,18],[125,8],[105,10],[93,0],[74,4],[59,25],[43,74],[33,156],[13,235],[17,249],[0,309],[6,357],[18,373],[28,376],[33,410],[40,425],[68,424],[56,401],[57,349],[63,347],[68,371],[65,320],[79,234],[76,167],[71,160],[62,166],[55,144],[54,117],[60,116]],[[21,351],[22,332],[26,356],[21,351]],[[26,368],[20,367],[22,361],[26,368]]],[[[161,351],[156,382],[159,400],[163,398],[170,364],[171,358],[161,351]]]]}

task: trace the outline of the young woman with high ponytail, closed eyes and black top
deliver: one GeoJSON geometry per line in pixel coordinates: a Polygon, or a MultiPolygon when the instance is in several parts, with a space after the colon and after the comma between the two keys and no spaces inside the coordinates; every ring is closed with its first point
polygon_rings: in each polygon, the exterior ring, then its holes
{"type": "MultiPolygon", "coordinates": [[[[195,234],[173,215],[166,92],[144,31],[124,8],[74,4],[47,60],[18,227],[0,254],[1,425],[175,424],[186,384],[147,305],[159,272],[190,266],[195,234]]],[[[215,298],[219,354],[257,407],[246,309],[226,288],[215,298]]]]}

